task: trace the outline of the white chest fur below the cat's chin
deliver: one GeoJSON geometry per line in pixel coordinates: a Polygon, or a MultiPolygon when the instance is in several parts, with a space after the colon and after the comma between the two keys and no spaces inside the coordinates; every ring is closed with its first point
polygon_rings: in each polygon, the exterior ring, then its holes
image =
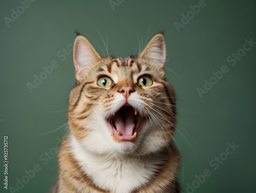
{"type": "Polygon", "coordinates": [[[126,157],[120,155],[99,156],[92,154],[81,146],[72,136],[72,153],[83,172],[94,183],[113,193],[129,193],[147,183],[157,170],[156,162],[144,157],[126,157]]]}

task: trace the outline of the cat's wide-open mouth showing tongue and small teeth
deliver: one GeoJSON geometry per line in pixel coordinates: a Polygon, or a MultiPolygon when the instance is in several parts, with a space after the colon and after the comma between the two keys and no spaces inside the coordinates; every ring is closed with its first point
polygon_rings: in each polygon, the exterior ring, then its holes
{"type": "Polygon", "coordinates": [[[134,142],[142,127],[142,118],[132,106],[122,106],[117,112],[106,118],[112,136],[117,142],[134,142]]]}

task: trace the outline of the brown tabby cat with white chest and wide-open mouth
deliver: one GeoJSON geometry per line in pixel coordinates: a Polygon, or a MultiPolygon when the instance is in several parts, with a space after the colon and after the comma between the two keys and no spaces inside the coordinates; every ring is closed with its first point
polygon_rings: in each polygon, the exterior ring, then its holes
{"type": "Polygon", "coordinates": [[[165,80],[165,58],[162,33],[126,58],[102,58],[77,34],[70,131],[51,192],[181,192],[175,93],[165,80]]]}

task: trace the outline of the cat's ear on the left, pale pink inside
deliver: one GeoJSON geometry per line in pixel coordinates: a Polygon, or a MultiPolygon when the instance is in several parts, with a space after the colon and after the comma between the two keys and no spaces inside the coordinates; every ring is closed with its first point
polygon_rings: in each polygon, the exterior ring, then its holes
{"type": "Polygon", "coordinates": [[[79,83],[84,80],[87,68],[99,59],[100,55],[95,51],[88,39],[78,35],[74,43],[74,64],[76,80],[79,83]]]}

